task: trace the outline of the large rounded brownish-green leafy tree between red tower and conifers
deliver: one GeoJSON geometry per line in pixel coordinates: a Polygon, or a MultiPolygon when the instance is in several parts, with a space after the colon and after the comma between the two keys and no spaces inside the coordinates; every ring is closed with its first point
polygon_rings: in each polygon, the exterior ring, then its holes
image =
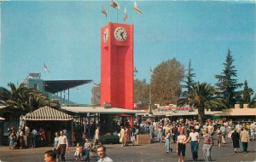
{"type": "Polygon", "coordinates": [[[151,103],[176,104],[181,95],[184,67],[175,58],[163,61],[154,68],[151,75],[151,103]]]}

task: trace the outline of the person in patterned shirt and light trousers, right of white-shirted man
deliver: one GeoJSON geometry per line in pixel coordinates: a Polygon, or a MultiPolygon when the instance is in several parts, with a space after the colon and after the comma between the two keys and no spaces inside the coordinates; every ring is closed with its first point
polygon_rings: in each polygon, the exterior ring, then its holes
{"type": "Polygon", "coordinates": [[[212,151],[212,136],[209,134],[209,130],[204,131],[204,141],[203,141],[203,154],[205,161],[212,161],[211,151],[212,151]]]}

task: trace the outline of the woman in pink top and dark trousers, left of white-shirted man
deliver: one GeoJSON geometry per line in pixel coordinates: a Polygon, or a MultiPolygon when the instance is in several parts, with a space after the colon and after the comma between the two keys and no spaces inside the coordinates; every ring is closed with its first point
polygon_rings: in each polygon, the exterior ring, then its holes
{"type": "Polygon", "coordinates": [[[179,132],[179,136],[177,136],[177,158],[178,162],[184,162],[185,155],[186,155],[186,136],[183,133],[183,130],[179,132]]]}

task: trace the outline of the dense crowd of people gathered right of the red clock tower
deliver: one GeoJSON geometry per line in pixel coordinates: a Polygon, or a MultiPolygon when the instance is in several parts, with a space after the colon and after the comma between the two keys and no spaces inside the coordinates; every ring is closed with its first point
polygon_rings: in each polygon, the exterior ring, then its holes
{"type": "MultiPolygon", "coordinates": [[[[240,142],[242,145],[242,152],[247,153],[248,142],[255,140],[256,122],[251,124],[237,124],[230,121],[219,122],[217,119],[207,119],[205,124],[200,124],[193,119],[177,119],[172,121],[168,118],[160,119],[159,121],[146,121],[143,124],[135,124],[134,128],[129,130],[128,126],[125,130],[121,128],[120,142],[122,146],[125,146],[126,138],[123,136],[133,136],[140,133],[149,134],[151,140],[154,138],[159,142],[165,141],[166,153],[172,153],[170,143],[177,143],[177,157],[178,161],[184,161],[186,144],[190,142],[191,154],[194,161],[198,160],[199,142],[202,139],[202,152],[205,161],[211,161],[211,149],[213,146],[213,136],[216,136],[218,147],[221,148],[224,145],[225,137],[233,142],[234,152],[240,148],[240,142]],[[124,140],[121,140],[123,138],[124,140]]],[[[136,139],[136,138],[135,138],[136,139]]],[[[129,138],[127,138],[129,142],[129,138]]]]}

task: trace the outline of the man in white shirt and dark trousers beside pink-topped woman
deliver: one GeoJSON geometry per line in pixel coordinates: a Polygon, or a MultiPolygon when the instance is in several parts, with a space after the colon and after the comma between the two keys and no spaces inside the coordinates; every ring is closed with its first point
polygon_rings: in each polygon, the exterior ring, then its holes
{"type": "Polygon", "coordinates": [[[187,139],[187,141],[185,143],[189,142],[189,140],[191,140],[190,146],[191,146],[191,153],[192,153],[193,160],[197,161],[200,136],[199,136],[199,133],[195,131],[194,127],[191,127],[191,132],[189,133],[189,138],[187,139]]]}

